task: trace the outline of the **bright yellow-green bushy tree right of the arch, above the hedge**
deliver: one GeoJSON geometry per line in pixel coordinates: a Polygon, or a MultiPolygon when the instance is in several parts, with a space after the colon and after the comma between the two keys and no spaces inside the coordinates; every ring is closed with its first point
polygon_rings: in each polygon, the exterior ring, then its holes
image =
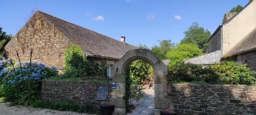
{"type": "Polygon", "coordinates": [[[179,44],[176,49],[167,52],[167,58],[170,59],[170,64],[177,64],[186,59],[194,58],[202,55],[202,51],[198,48],[197,44],[179,44]]]}

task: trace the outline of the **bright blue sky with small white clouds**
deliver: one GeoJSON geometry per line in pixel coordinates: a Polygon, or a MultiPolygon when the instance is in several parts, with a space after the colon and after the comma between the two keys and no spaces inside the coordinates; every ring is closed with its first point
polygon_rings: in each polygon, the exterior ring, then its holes
{"type": "Polygon", "coordinates": [[[152,47],[159,39],[179,42],[195,21],[213,33],[231,8],[248,0],[1,0],[0,26],[15,35],[32,10],[39,9],[84,28],[152,47]]]}

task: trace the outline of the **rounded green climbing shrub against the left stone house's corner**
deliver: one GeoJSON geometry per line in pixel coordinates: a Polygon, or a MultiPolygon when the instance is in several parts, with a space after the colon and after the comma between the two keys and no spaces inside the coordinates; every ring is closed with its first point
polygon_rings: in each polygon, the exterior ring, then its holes
{"type": "Polygon", "coordinates": [[[87,76],[89,61],[82,49],[76,44],[69,44],[65,51],[65,74],[71,77],[87,76]]]}

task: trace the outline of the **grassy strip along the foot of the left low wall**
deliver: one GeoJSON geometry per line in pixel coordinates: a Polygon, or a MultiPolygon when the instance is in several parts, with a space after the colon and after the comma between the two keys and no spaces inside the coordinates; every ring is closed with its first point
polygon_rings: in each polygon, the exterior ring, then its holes
{"type": "Polygon", "coordinates": [[[36,108],[47,108],[60,111],[73,111],[79,113],[96,113],[96,109],[93,105],[84,103],[82,104],[71,104],[67,102],[48,102],[46,100],[36,100],[32,103],[32,107],[36,108]]]}

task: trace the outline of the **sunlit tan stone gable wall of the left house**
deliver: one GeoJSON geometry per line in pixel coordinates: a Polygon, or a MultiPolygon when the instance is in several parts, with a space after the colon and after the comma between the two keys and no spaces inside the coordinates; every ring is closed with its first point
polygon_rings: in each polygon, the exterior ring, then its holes
{"type": "Polygon", "coordinates": [[[34,14],[27,24],[13,37],[6,46],[8,57],[17,60],[16,51],[21,61],[32,60],[63,70],[64,53],[68,45],[65,37],[58,32],[40,14],[34,14]]]}

